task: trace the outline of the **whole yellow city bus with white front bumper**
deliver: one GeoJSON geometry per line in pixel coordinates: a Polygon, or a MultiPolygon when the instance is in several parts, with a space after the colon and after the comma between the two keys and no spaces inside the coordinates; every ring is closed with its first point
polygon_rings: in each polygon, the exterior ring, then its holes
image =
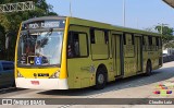
{"type": "Polygon", "coordinates": [[[22,22],[15,50],[16,87],[95,86],[162,67],[161,35],[69,16],[22,22]]]}

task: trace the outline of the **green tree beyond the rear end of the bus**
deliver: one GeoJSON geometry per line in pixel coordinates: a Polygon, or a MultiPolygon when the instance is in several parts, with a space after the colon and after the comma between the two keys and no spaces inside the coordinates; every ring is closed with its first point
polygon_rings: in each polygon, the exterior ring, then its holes
{"type": "Polygon", "coordinates": [[[174,29],[169,26],[156,26],[156,29],[161,34],[162,33],[162,43],[164,48],[174,48],[174,29]]]}

